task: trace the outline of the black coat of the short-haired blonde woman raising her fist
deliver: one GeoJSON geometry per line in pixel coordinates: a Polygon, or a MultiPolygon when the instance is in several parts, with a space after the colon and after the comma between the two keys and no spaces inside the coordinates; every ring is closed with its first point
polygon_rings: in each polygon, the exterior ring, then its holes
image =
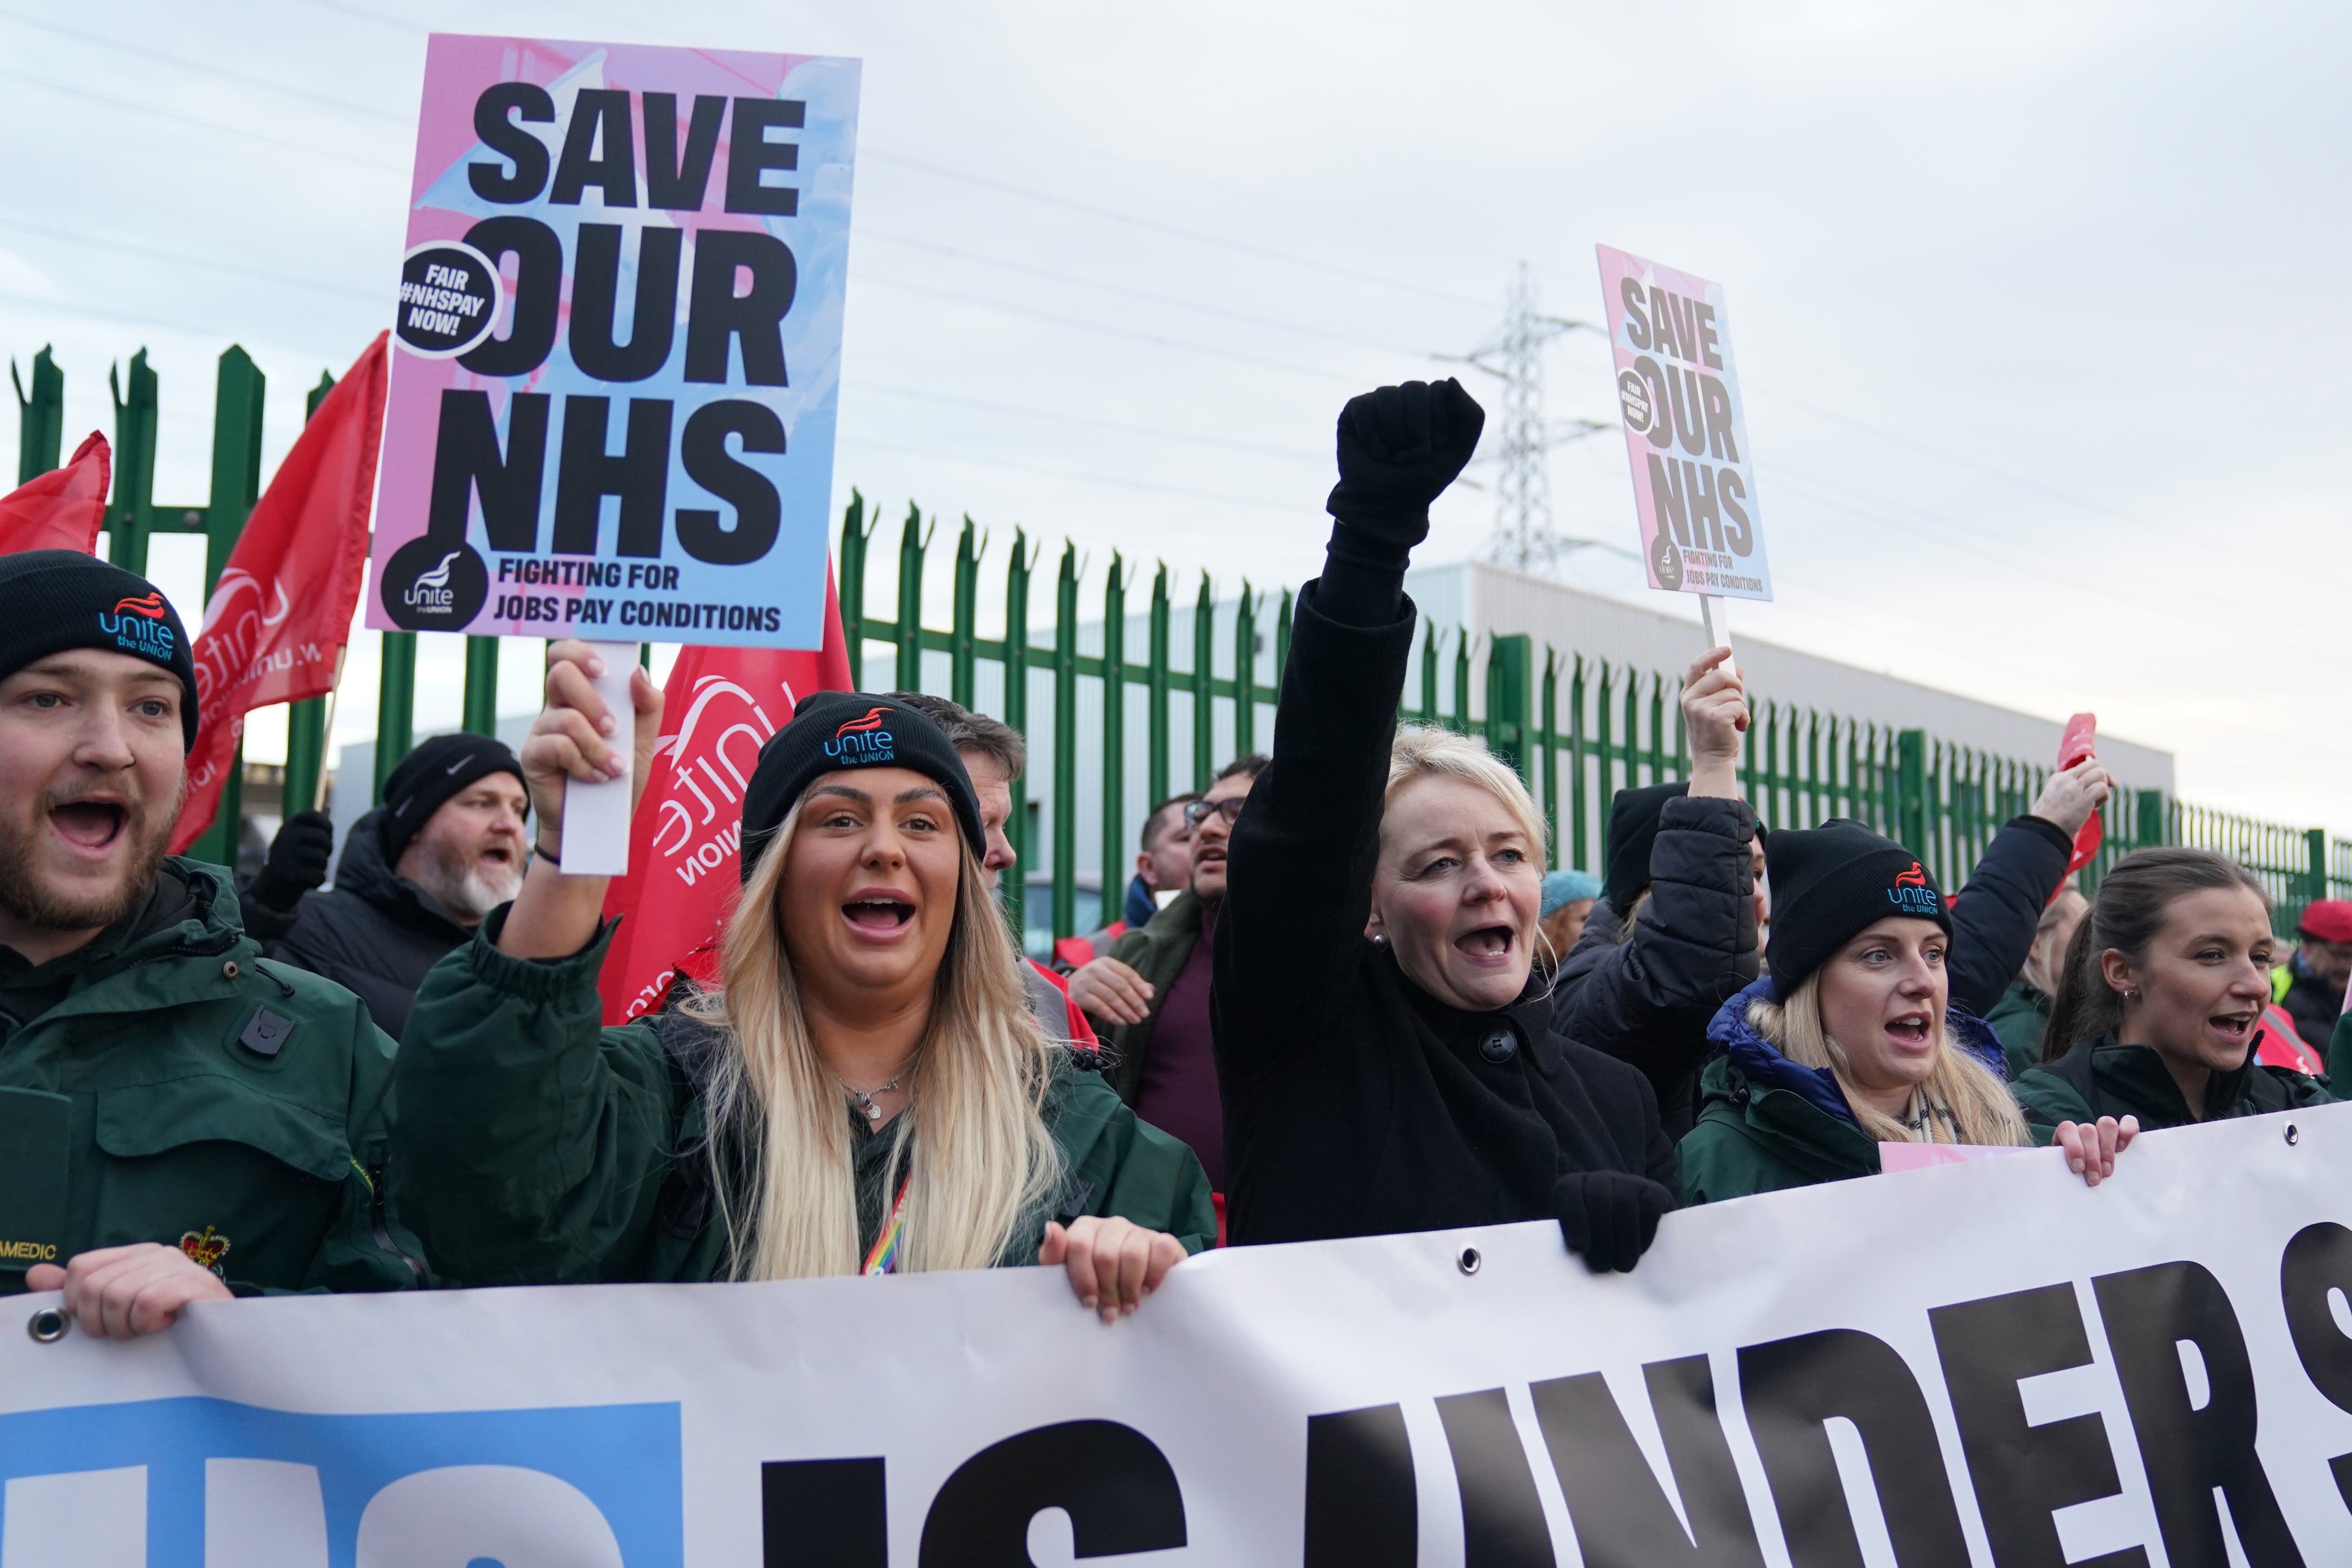
{"type": "MultiPolygon", "coordinates": [[[[1399,571],[1402,576],[1402,571],[1399,571]]],[[[1649,1081],[1548,1027],[1541,983],[1463,1013],[1364,938],[1414,607],[1331,621],[1308,583],[1275,762],[1232,825],[1209,1018],[1235,1244],[1552,1220],[1675,1187],[1649,1081]]]]}

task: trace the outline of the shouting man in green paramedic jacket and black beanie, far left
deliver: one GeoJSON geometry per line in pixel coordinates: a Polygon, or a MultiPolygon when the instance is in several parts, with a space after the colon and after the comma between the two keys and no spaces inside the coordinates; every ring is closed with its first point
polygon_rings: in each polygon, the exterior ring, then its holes
{"type": "Polygon", "coordinates": [[[426,1279],[383,1201],[393,1041],[165,853],[195,698],[151,583],[0,557],[0,1293],[64,1288],[92,1335],[426,1279]]]}

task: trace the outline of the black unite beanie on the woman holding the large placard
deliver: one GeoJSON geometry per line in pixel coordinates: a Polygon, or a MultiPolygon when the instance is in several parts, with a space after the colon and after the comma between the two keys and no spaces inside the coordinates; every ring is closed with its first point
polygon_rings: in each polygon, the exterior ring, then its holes
{"type": "Polygon", "coordinates": [[[913,769],[938,780],[971,853],[988,853],[981,797],[938,724],[887,696],[818,691],[760,748],[760,766],[743,790],[743,882],[750,882],[769,839],[783,827],[783,813],[811,783],[842,769],[913,769]]]}

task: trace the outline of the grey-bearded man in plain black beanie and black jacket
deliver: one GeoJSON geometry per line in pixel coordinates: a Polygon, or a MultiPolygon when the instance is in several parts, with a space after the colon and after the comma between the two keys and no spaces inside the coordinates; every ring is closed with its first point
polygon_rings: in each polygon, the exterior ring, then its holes
{"type": "Polygon", "coordinates": [[[358,992],[395,1039],[426,971],[522,886],[529,839],[515,752],[489,736],[433,736],[350,827],[334,886],[303,893],[273,959],[358,992]]]}

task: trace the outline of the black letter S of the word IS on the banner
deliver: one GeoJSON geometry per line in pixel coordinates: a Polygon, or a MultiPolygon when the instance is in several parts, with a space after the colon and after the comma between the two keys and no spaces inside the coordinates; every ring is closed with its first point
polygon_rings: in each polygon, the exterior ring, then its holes
{"type": "Polygon", "coordinates": [[[1070,1516],[1077,1556],[1185,1544],[1183,1490],[1157,1443],[1115,1420],[1065,1420],[990,1443],[957,1465],[931,1497],[917,1563],[1030,1568],[1028,1528],[1044,1509],[1070,1516]]]}

